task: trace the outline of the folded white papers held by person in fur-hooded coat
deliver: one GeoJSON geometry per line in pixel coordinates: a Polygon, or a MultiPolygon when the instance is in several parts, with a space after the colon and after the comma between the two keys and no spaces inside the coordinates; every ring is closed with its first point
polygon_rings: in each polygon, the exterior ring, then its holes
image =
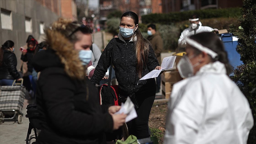
{"type": "Polygon", "coordinates": [[[121,108],[118,112],[115,114],[127,114],[127,117],[125,118],[125,122],[131,121],[132,119],[137,118],[137,112],[134,108],[134,104],[132,103],[130,97],[127,97],[127,100],[125,103],[121,104],[121,108]]]}

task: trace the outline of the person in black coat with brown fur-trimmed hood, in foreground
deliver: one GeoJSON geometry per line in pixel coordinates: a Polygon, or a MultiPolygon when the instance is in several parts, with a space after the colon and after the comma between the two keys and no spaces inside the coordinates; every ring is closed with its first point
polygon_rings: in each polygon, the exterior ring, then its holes
{"type": "Polygon", "coordinates": [[[41,72],[36,104],[40,113],[39,144],[106,143],[105,132],[118,129],[127,115],[120,106],[100,105],[97,88],[87,79],[92,36],[89,27],[59,18],[45,30],[47,50],[33,57],[41,72]]]}

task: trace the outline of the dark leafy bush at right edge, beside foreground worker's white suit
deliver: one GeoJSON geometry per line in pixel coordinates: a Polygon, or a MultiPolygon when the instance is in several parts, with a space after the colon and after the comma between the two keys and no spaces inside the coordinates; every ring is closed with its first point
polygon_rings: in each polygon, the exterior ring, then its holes
{"type": "Polygon", "coordinates": [[[249,133],[248,144],[256,144],[256,61],[239,65],[234,69],[231,79],[236,82],[248,99],[254,118],[254,127],[249,133]]]}

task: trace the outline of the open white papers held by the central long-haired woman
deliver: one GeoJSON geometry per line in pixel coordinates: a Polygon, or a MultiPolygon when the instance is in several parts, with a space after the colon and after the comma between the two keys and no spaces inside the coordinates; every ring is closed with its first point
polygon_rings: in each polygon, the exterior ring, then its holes
{"type": "Polygon", "coordinates": [[[138,81],[137,84],[140,84],[141,82],[145,81],[146,79],[151,79],[151,78],[158,77],[159,74],[161,73],[161,71],[172,68],[174,63],[175,63],[175,59],[176,59],[176,56],[164,57],[164,59],[162,61],[162,64],[161,64],[161,70],[153,70],[153,71],[149,72],[148,74],[143,76],[138,81]]]}

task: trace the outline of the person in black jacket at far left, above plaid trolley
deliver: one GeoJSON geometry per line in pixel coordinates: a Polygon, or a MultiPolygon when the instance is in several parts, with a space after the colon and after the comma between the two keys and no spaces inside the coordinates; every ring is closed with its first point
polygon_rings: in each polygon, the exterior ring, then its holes
{"type": "Polygon", "coordinates": [[[17,58],[14,52],[14,42],[6,41],[0,49],[0,85],[12,85],[13,81],[20,80],[18,73],[17,58]]]}

